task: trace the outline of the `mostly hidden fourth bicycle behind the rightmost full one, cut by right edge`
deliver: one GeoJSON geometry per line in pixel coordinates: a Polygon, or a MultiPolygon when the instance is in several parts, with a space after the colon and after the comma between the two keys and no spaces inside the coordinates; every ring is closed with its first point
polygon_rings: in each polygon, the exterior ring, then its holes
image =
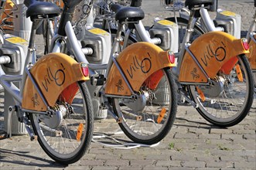
{"type": "MultiPolygon", "coordinates": [[[[176,22],[179,25],[179,33],[181,35],[184,35],[183,32],[186,29],[186,26],[188,23],[189,9],[184,7],[184,4],[179,3],[179,6],[178,6],[177,2],[175,2],[175,1],[173,1],[172,3],[167,5],[166,8],[171,8],[174,11],[175,7],[179,9],[179,17],[171,17],[171,18],[167,18],[167,20],[169,20],[171,22],[176,22]]],[[[254,3],[254,7],[255,7],[255,3],[254,3]]],[[[211,31],[215,31],[215,30],[230,33],[231,35],[233,35],[237,38],[241,37],[241,33],[240,33],[240,27],[241,27],[240,25],[241,24],[240,24],[239,19],[236,19],[236,18],[241,18],[241,17],[237,16],[237,14],[235,14],[234,12],[229,12],[229,11],[226,11],[223,9],[218,9],[217,12],[218,12],[218,15],[224,15],[226,19],[217,18],[217,19],[212,20],[212,19],[210,19],[210,15],[208,14],[207,9],[205,9],[205,8],[200,9],[200,14],[201,14],[200,19],[196,20],[194,35],[191,36],[190,42],[192,42],[193,39],[195,39],[196,37],[198,37],[206,32],[211,32],[211,31]],[[235,26],[236,24],[237,24],[237,26],[235,26]]],[[[255,19],[255,17],[254,17],[254,19],[255,19]]],[[[251,41],[251,39],[254,39],[254,38],[253,38],[253,35],[251,35],[251,34],[253,34],[253,32],[254,32],[254,26],[255,26],[255,24],[254,24],[254,22],[252,22],[250,28],[247,31],[246,39],[248,40],[248,43],[250,46],[253,46],[253,41],[251,41]]],[[[180,42],[181,42],[183,37],[179,37],[179,38],[180,38],[180,42]]],[[[254,84],[256,84],[256,81],[255,81],[256,66],[255,66],[254,56],[252,56],[253,54],[254,54],[254,52],[251,52],[248,55],[248,61],[250,63],[252,72],[254,74],[254,84]]]]}

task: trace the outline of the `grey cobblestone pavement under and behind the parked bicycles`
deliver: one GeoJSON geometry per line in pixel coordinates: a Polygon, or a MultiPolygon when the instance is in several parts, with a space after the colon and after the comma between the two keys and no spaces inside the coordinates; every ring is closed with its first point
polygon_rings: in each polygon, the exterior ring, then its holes
{"type": "MultiPolygon", "coordinates": [[[[145,26],[151,26],[155,16],[166,18],[170,15],[163,9],[157,11],[156,2],[159,4],[158,1],[144,0],[145,26]],[[146,8],[146,5],[153,5],[155,10],[146,8]]],[[[219,7],[240,14],[241,31],[246,32],[255,11],[253,1],[220,1],[219,7]]],[[[40,38],[37,43],[38,47],[43,46],[40,38]]],[[[3,95],[0,93],[0,131],[4,124],[3,95]]],[[[179,105],[176,121],[159,145],[120,148],[114,139],[120,139],[122,143],[132,142],[119,132],[120,128],[113,118],[96,120],[95,138],[89,150],[79,162],[68,166],[53,162],[38,142],[29,141],[26,134],[5,138],[0,140],[0,170],[256,169],[255,97],[250,113],[234,127],[218,128],[205,121],[193,107],[179,105]],[[104,134],[108,138],[96,138],[96,134],[104,134]]]]}

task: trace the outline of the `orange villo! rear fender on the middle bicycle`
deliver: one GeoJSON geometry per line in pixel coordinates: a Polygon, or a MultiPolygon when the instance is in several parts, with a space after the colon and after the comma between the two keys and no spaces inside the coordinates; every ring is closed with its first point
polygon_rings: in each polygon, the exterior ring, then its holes
{"type": "MultiPolygon", "coordinates": [[[[156,87],[162,76],[154,73],[158,73],[162,68],[175,66],[175,63],[170,63],[167,51],[149,42],[137,42],[128,46],[116,59],[133,91],[138,91],[145,80],[151,80],[151,78],[156,84],[152,84],[149,88],[156,87]]],[[[113,64],[106,81],[105,93],[130,96],[131,90],[121,76],[118,67],[113,64]]]]}

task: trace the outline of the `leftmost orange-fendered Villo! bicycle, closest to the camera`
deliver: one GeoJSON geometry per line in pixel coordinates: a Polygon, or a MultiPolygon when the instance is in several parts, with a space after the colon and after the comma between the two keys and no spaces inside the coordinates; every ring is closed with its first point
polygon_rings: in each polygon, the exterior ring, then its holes
{"type": "Polygon", "coordinates": [[[63,53],[50,53],[34,63],[36,29],[43,19],[60,15],[60,8],[34,0],[24,3],[26,16],[32,21],[29,42],[0,34],[0,60],[5,71],[0,83],[15,100],[5,120],[7,134],[12,136],[11,115],[16,113],[31,141],[38,140],[54,161],[71,164],[85,154],[93,135],[92,103],[84,83],[89,80],[88,67],[63,53]],[[19,82],[18,87],[15,82],[19,82]]]}

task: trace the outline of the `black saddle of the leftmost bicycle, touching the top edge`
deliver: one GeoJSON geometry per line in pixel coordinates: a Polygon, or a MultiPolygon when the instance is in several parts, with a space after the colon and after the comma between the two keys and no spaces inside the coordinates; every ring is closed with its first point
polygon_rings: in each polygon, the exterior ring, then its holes
{"type": "Polygon", "coordinates": [[[37,2],[36,0],[25,0],[26,17],[33,19],[51,19],[60,15],[60,7],[51,2],[37,2]]]}

